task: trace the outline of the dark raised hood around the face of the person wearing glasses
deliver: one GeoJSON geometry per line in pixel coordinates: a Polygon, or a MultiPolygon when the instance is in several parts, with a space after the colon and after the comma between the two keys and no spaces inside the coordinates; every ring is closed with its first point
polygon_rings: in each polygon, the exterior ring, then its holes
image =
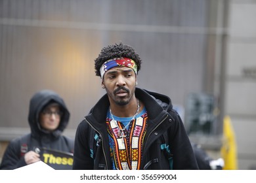
{"type": "Polygon", "coordinates": [[[55,92],[51,90],[41,90],[40,92],[35,93],[32,99],[30,99],[30,110],[28,114],[28,122],[30,124],[31,133],[34,137],[41,137],[41,135],[50,135],[53,137],[58,137],[64,131],[68,125],[68,120],[70,119],[70,112],[66,107],[63,99],[55,92]],[[60,105],[60,110],[62,110],[63,115],[60,120],[60,125],[58,128],[49,133],[41,129],[39,125],[39,113],[49,103],[58,103],[60,105]]]}

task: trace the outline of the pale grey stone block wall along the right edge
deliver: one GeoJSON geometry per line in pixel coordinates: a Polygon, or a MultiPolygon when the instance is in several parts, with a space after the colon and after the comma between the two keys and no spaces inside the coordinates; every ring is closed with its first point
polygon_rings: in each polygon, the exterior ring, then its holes
{"type": "Polygon", "coordinates": [[[256,165],[256,1],[230,1],[225,109],[236,135],[238,167],[256,165]]]}

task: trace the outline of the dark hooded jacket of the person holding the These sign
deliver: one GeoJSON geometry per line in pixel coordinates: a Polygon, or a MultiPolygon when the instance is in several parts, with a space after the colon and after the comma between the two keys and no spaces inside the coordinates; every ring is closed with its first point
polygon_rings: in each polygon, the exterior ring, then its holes
{"type": "Polygon", "coordinates": [[[24,161],[24,153],[34,150],[37,147],[73,153],[74,140],[62,135],[62,132],[68,125],[69,118],[70,112],[57,93],[51,90],[42,90],[35,93],[30,100],[30,110],[28,114],[31,133],[13,139],[9,143],[5,150],[0,169],[16,169],[23,167],[26,165],[26,162],[24,161]],[[39,125],[39,113],[45,105],[52,101],[60,105],[63,115],[58,129],[49,133],[41,129],[39,125]]]}

